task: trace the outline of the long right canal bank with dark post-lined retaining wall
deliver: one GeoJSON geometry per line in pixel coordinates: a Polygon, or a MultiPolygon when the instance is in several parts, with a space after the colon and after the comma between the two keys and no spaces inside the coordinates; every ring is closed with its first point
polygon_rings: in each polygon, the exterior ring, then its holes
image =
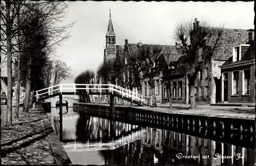
{"type": "Polygon", "coordinates": [[[114,115],[116,120],[129,121],[142,126],[157,125],[162,129],[172,128],[174,131],[182,129],[185,133],[188,131],[194,133],[195,129],[201,128],[244,135],[253,135],[255,131],[255,113],[254,109],[249,107],[198,106],[195,110],[190,110],[187,105],[176,105],[173,109],[115,105],[112,113],[109,104],[74,103],[74,110],[104,118],[111,118],[114,115]]]}

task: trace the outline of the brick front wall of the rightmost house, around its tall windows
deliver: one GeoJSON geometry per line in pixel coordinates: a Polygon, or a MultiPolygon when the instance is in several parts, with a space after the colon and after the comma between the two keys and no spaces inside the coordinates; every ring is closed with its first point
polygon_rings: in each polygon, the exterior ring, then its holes
{"type": "MultiPolygon", "coordinates": [[[[246,102],[255,102],[255,77],[254,77],[254,69],[255,65],[246,65],[236,68],[229,68],[223,69],[223,72],[228,72],[228,102],[229,103],[246,103],[246,102]],[[243,70],[250,69],[250,94],[243,94],[243,70]],[[239,80],[238,80],[238,87],[239,93],[238,95],[232,95],[232,72],[239,71],[239,80]]],[[[223,82],[221,82],[223,84],[223,82]]],[[[221,86],[221,93],[223,93],[222,86],[221,86]]],[[[223,98],[221,98],[223,101],[223,98]]]]}

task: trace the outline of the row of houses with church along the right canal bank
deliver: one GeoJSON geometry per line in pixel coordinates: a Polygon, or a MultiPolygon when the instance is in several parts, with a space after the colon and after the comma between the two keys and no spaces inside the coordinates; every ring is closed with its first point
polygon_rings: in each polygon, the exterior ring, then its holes
{"type": "MultiPolygon", "coordinates": [[[[200,25],[200,22],[195,19],[195,24],[200,25]]],[[[124,45],[117,45],[111,13],[105,38],[104,61],[115,59],[117,56],[128,56],[129,52],[148,45],[142,44],[142,42],[132,44],[127,39],[125,39],[124,45]]],[[[158,56],[160,67],[154,76],[157,102],[168,102],[168,80],[163,75],[166,72],[166,66],[169,66],[172,73],[172,80],[170,80],[171,102],[189,103],[188,80],[177,66],[184,58],[182,47],[179,43],[158,46],[161,46],[163,51],[158,56]]],[[[223,29],[219,47],[211,56],[209,63],[198,73],[195,84],[196,101],[210,104],[255,102],[254,47],[254,30],[223,29]]],[[[199,49],[199,59],[202,59],[202,52],[203,50],[199,49]]],[[[147,76],[141,78],[141,93],[151,97],[151,87],[148,85],[147,76]]]]}

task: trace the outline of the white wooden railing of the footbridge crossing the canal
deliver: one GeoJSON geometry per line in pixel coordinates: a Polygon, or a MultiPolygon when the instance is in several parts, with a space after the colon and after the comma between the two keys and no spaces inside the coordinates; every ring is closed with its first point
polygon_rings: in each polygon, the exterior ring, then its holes
{"type": "Polygon", "coordinates": [[[132,100],[138,101],[141,104],[152,105],[152,100],[150,98],[112,84],[59,84],[36,91],[36,100],[38,101],[38,99],[41,97],[50,96],[55,93],[68,91],[73,92],[74,94],[76,94],[78,91],[88,94],[90,92],[100,92],[100,94],[105,92],[117,92],[119,95],[131,98],[132,100]]]}

